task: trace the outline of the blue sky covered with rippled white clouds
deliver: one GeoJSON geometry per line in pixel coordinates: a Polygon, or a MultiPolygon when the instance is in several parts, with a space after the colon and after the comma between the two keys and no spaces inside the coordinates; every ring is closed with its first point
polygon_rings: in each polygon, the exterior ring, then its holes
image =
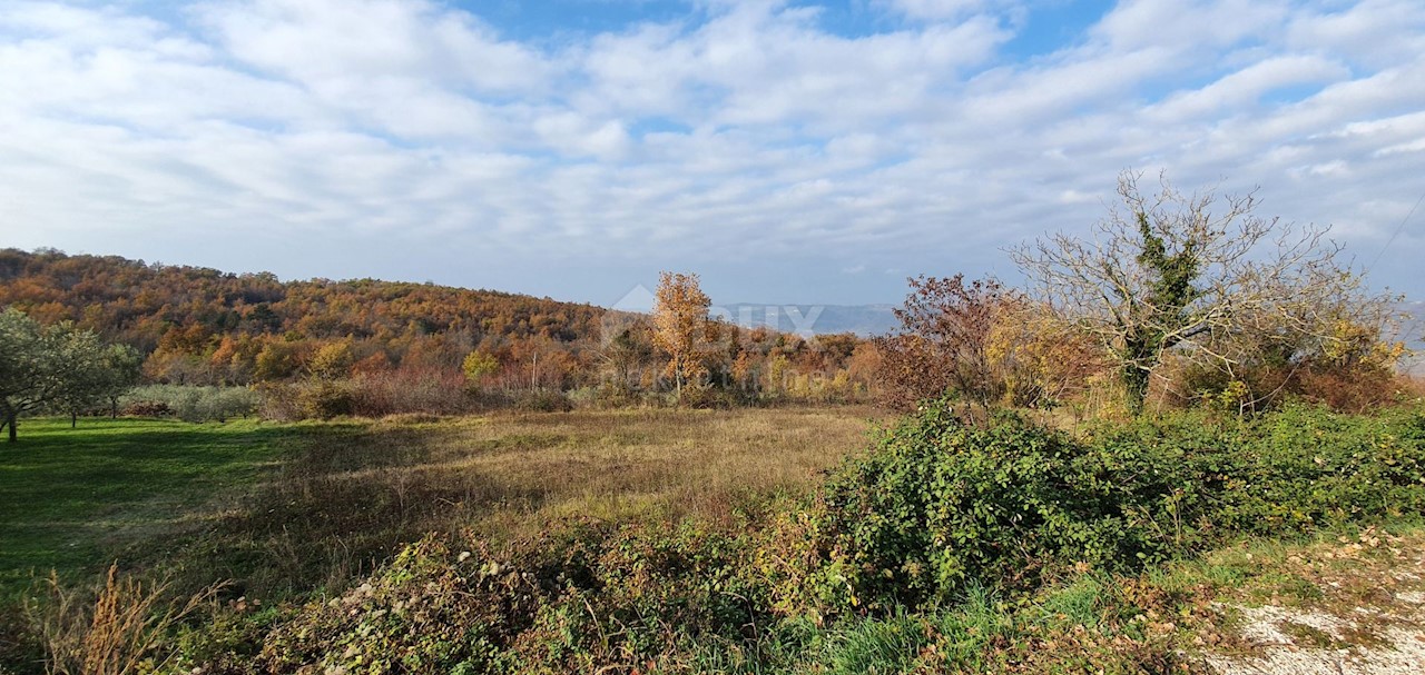
{"type": "Polygon", "coordinates": [[[0,1],[4,248],[895,303],[1126,169],[1425,299],[1425,3],[0,1]]]}

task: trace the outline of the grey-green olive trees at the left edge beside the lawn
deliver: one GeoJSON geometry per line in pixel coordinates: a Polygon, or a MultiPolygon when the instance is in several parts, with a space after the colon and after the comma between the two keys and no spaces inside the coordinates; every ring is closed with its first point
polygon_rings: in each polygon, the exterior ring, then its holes
{"type": "Polygon", "coordinates": [[[74,424],[83,412],[107,407],[138,382],[141,359],[127,345],[105,345],[73,323],[40,326],[10,308],[0,313],[0,429],[17,439],[19,416],[58,412],[74,424]]]}

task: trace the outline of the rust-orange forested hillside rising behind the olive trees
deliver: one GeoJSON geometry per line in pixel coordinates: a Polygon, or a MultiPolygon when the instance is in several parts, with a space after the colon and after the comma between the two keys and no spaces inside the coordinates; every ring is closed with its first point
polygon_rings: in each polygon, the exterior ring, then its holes
{"type": "Polygon", "coordinates": [[[148,355],[174,382],[292,375],[306,353],[351,339],[359,366],[453,366],[472,349],[573,352],[604,310],[429,283],[291,281],[271,273],[147,265],[118,256],[0,251],[0,305],[41,323],[73,320],[148,355]]]}

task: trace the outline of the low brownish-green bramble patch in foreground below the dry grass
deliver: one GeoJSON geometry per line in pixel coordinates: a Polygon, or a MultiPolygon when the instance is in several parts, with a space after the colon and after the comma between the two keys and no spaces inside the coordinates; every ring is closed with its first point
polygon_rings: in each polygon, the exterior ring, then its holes
{"type": "MultiPolygon", "coordinates": [[[[435,538],[264,639],[249,672],[596,672],[741,641],[768,617],[737,540],[571,523],[494,553],[435,538]]],[[[624,669],[620,669],[624,672],[624,669]]]]}

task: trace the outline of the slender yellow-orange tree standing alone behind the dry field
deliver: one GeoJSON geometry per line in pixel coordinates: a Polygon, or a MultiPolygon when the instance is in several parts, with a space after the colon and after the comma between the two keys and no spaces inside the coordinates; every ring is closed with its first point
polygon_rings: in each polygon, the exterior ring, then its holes
{"type": "Polygon", "coordinates": [[[703,373],[701,346],[707,336],[711,300],[698,288],[698,275],[663,272],[654,292],[653,340],[668,355],[664,373],[673,377],[678,399],[683,383],[703,373]]]}

